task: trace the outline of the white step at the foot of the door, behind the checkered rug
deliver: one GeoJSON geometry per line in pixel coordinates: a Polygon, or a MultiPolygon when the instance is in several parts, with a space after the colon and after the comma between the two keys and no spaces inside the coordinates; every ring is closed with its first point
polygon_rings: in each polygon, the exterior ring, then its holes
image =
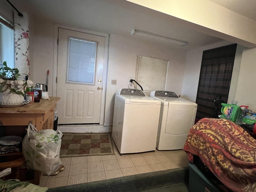
{"type": "Polygon", "coordinates": [[[57,130],[60,130],[63,133],[110,133],[112,132],[112,126],[98,124],[58,125],[57,130]]]}

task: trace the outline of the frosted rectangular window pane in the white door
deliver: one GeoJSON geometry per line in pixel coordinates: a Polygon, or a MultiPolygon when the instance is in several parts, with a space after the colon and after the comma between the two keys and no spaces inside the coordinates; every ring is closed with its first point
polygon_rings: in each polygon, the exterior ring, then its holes
{"type": "Polygon", "coordinates": [[[97,42],[70,37],[67,83],[94,85],[97,42]]]}

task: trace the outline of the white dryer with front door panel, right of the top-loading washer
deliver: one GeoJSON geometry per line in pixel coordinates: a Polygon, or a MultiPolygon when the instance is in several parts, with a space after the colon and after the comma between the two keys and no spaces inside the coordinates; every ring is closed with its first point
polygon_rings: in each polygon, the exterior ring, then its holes
{"type": "Polygon", "coordinates": [[[197,104],[179,98],[174,92],[152,91],[150,97],[161,101],[158,150],[183,149],[188,131],[194,125],[197,104]]]}

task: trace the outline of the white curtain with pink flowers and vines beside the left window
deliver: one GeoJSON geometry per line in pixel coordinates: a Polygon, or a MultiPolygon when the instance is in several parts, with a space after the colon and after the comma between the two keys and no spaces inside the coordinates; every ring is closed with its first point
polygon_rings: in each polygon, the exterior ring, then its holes
{"type": "Polygon", "coordinates": [[[22,12],[23,17],[14,13],[14,40],[15,40],[15,67],[18,68],[21,78],[29,73],[29,19],[28,14],[22,12]]]}

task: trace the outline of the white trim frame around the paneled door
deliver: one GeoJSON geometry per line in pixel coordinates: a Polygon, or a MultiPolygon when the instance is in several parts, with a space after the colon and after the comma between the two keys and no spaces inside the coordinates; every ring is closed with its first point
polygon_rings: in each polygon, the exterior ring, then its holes
{"type": "MultiPolygon", "coordinates": [[[[103,78],[102,78],[102,97],[101,97],[101,106],[100,106],[100,125],[104,124],[104,116],[105,116],[105,101],[106,101],[106,88],[107,88],[107,68],[108,68],[108,40],[109,40],[109,34],[104,33],[98,33],[83,29],[78,29],[74,27],[69,26],[63,26],[59,24],[54,24],[54,61],[53,61],[53,82],[52,82],[52,96],[57,96],[57,64],[58,64],[58,29],[64,28],[67,30],[74,30],[78,32],[84,32],[89,33],[93,35],[98,36],[104,36],[105,37],[105,49],[104,49],[104,62],[103,62],[103,78]]],[[[61,98],[60,98],[61,99],[61,98]]]]}

